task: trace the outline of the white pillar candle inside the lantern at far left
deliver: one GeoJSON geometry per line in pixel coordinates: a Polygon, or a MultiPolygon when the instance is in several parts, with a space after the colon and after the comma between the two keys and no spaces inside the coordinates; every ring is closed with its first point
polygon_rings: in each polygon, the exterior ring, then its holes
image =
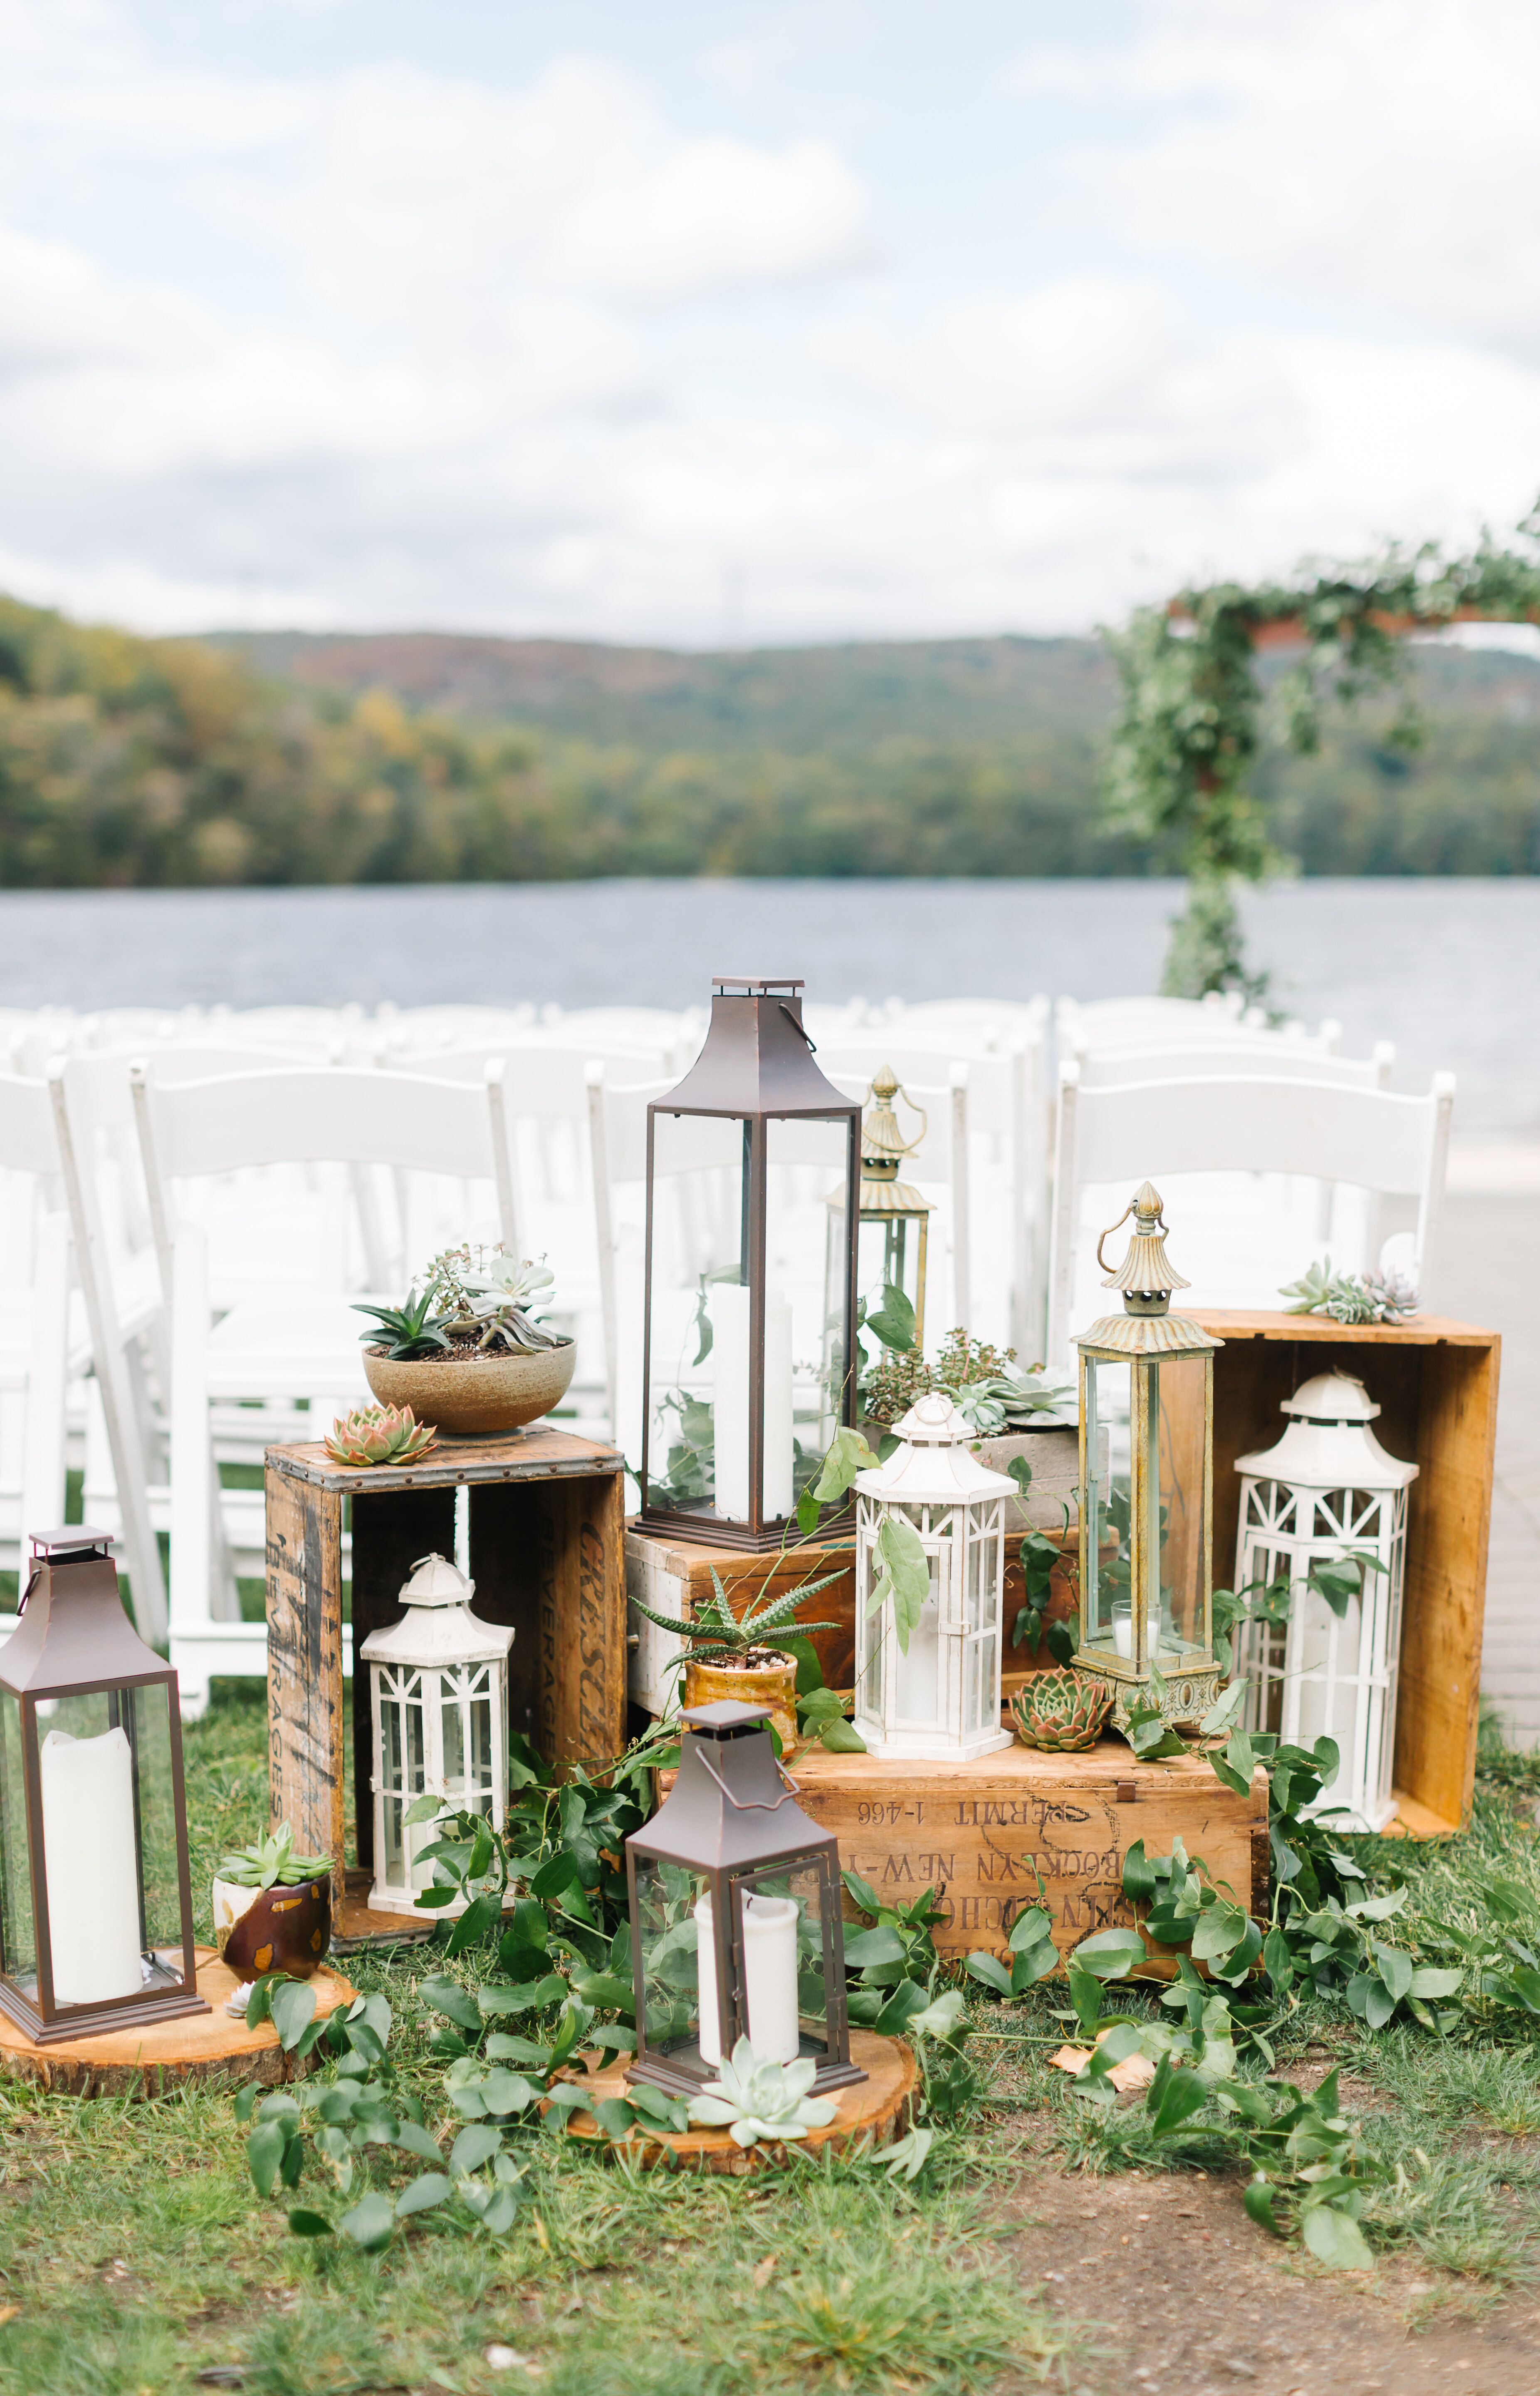
{"type": "Polygon", "coordinates": [[[41,1747],[48,1938],[57,2005],[139,1996],[134,1756],[122,1728],[50,1730],[41,1747]]]}

